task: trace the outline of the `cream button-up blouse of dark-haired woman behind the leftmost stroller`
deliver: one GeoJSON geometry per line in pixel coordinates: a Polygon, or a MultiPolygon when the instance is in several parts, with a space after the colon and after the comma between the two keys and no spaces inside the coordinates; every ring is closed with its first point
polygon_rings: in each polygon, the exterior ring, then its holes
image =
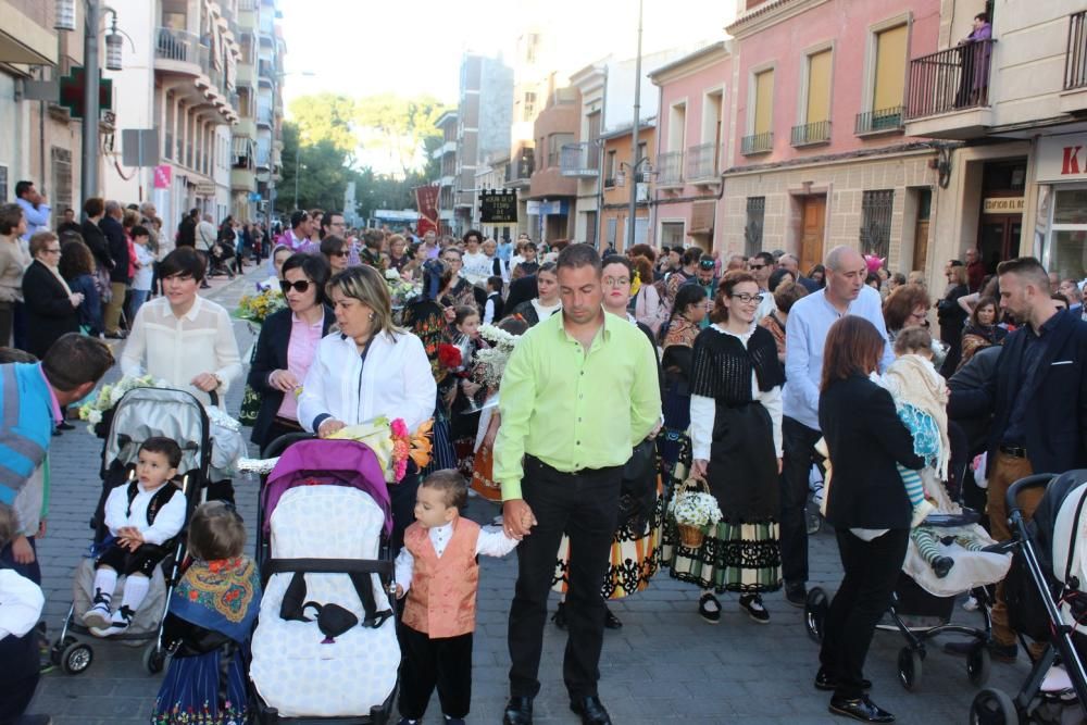
{"type": "Polygon", "coordinates": [[[189,384],[201,373],[213,373],[223,382],[218,388],[222,403],[230,380],[241,377],[241,355],[230,315],[199,296],[180,317],[165,297],[146,302],[136,313],[121,354],[121,372],[134,376],[147,373],[203,402],[208,402],[208,393],[189,384]]]}

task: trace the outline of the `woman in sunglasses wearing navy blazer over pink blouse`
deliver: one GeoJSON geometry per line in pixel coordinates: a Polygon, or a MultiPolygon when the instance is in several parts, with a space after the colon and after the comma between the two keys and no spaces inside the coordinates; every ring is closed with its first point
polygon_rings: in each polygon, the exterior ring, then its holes
{"type": "MultiPolygon", "coordinates": [[[[322,247],[328,239],[325,237],[322,247]]],[[[249,387],[261,396],[251,440],[261,448],[284,434],[302,429],[298,423],[298,391],[317,343],[335,321],[332,308],[325,304],[329,276],[328,263],[317,254],[292,254],[283,264],[279,288],[288,309],[264,321],[249,368],[249,387]]]]}

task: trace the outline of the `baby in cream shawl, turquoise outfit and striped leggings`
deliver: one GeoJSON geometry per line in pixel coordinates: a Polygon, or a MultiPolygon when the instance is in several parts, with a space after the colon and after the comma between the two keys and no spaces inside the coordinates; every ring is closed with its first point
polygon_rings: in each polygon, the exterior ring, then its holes
{"type": "Polygon", "coordinates": [[[933,338],[925,328],[908,327],[900,332],[895,339],[895,362],[877,382],[890,391],[899,418],[913,435],[914,452],[927,464],[920,471],[898,466],[913,505],[910,538],[924,562],[942,579],[955,562],[949,555],[950,549],[940,546],[941,541],[953,539],[966,551],[980,551],[992,541],[971,525],[945,530],[925,525],[926,516],[934,511],[962,513],[941,483],[947,479],[951,458],[946,411],[948,388],[933,364],[933,338]]]}

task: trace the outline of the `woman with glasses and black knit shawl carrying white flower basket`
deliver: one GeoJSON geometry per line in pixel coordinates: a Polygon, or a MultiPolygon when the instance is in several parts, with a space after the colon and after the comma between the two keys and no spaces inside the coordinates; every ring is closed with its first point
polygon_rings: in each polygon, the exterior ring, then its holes
{"type": "Polygon", "coordinates": [[[754,276],[729,272],[710,318],[695,340],[690,372],[691,474],[702,477],[722,518],[698,549],[665,534],[672,575],[702,588],[698,612],[721,621],[725,591],[759,624],[770,622],[762,592],[782,587],[778,546],[782,473],[782,386],[785,372],[774,336],[755,325],[762,292],[754,276]]]}

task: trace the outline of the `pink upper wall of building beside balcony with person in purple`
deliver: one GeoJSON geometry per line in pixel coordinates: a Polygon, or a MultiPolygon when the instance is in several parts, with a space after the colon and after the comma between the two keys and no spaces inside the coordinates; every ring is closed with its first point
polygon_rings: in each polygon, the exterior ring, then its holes
{"type": "MultiPolygon", "coordinates": [[[[753,12],[760,11],[757,9],[753,12]]],[[[858,137],[853,128],[857,114],[870,110],[862,108],[862,99],[872,27],[905,13],[909,13],[911,24],[908,59],[935,52],[939,39],[940,0],[833,0],[747,37],[744,36],[744,20],[740,18],[737,23],[740,27],[734,26],[740,37],[733,47],[734,62],[739,64],[735,88],[737,108],[733,163],[736,166],[765,164],[902,143],[901,134],[858,137]],[[804,51],[826,43],[833,43],[834,48],[830,142],[794,148],[790,145],[791,129],[800,124],[803,117],[801,104],[807,101],[801,97],[807,62],[804,51]],[[769,64],[774,67],[774,148],[771,153],[745,157],[740,153],[740,139],[754,133],[748,125],[751,72],[769,64]]],[[[909,62],[905,67],[909,71],[909,62]]]]}

